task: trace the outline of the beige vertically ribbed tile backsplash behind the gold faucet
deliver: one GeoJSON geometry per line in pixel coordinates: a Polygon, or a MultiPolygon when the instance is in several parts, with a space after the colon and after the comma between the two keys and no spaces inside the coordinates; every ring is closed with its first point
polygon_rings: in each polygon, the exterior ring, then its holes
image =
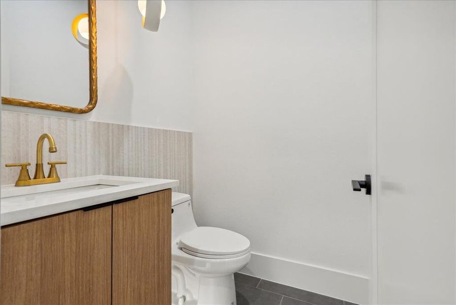
{"type": "MultiPolygon", "coordinates": [[[[43,146],[43,163],[58,166],[61,178],[96,174],[178,179],[176,191],[192,193],[192,134],[54,116],[2,111],[1,184],[13,184],[18,168],[6,163],[30,162],[35,170],[38,137],[50,133],[54,154],[43,146]]],[[[46,168],[46,165],[45,165],[46,168]]],[[[45,170],[47,174],[47,170],[45,170]]]]}

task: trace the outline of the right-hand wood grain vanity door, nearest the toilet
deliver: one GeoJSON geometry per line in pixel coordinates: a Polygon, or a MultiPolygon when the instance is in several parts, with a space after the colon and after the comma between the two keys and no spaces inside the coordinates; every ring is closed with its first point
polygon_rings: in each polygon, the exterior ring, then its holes
{"type": "Polygon", "coordinates": [[[171,190],[113,205],[112,303],[171,304],[171,190]]]}

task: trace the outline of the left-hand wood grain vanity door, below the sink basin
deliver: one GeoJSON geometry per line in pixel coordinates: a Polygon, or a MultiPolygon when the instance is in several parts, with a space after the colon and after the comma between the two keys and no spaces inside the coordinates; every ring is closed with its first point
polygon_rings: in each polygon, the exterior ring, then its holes
{"type": "Polygon", "coordinates": [[[2,228],[2,305],[110,304],[112,207],[2,228]]]}

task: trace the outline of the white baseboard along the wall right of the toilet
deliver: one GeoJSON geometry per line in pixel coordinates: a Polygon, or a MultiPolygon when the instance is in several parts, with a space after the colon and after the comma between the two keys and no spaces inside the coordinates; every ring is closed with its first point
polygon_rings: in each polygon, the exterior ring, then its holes
{"type": "Polygon", "coordinates": [[[252,253],[239,272],[357,304],[369,303],[369,278],[338,270],[252,253]]]}

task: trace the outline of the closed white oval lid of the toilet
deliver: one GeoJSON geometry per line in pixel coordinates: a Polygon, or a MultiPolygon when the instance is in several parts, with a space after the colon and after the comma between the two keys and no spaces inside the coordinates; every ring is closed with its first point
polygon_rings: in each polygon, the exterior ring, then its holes
{"type": "Polygon", "coordinates": [[[247,252],[250,249],[250,241],[247,237],[230,230],[197,227],[182,234],[179,246],[194,253],[231,255],[247,252]]]}

